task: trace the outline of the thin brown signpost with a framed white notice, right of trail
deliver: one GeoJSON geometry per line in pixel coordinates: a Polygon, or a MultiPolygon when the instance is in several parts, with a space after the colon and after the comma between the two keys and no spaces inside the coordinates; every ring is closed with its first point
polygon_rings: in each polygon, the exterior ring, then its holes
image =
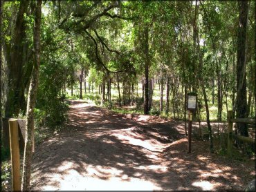
{"type": "Polygon", "coordinates": [[[188,93],[187,99],[187,109],[188,109],[188,153],[191,153],[191,136],[192,136],[192,119],[193,111],[196,111],[196,94],[188,93]]]}

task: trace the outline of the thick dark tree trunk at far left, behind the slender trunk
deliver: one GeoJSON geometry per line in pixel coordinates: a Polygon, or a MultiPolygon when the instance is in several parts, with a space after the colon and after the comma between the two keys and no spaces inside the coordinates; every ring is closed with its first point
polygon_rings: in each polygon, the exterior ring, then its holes
{"type": "MultiPolygon", "coordinates": [[[[28,15],[28,5],[29,1],[20,2],[12,42],[11,44],[5,43],[7,52],[6,61],[8,63],[8,69],[10,70],[8,74],[5,117],[17,116],[21,109],[25,109],[26,105],[24,90],[31,73],[29,59],[24,62],[26,60],[24,58],[26,58],[27,55],[26,52],[24,52],[24,47],[29,44],[28,41],[24,41],[26,37],[26,21],[24,15],[28,15]]],[[[33,6],[33,3],[31,3],[30,6],[33,6]]],[[[31,56],[32,55],[28,54],[27,58],[31,56]]]]}

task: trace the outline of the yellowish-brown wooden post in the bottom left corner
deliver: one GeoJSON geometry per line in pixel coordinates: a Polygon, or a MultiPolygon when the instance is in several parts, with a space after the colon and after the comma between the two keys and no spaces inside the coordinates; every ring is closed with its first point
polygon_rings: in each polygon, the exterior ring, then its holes
{"type": "Polygon", "coordinates": [[[10,157],[12,160],[12,190],[21,191],[19,162],[19,131],[17,119],[9,119],[10,157]]]}

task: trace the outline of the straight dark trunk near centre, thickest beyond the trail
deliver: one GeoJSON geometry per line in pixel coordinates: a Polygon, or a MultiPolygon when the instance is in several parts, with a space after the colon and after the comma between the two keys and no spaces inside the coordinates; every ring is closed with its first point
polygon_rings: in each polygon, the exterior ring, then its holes
{"type": "Polygon", "coordinates": [[[149,114],[149,27],[146,26],[145,27],[145,31],[144,31],[144,35],[145,35],[145,52],[144,52],[144,56],[145,56],[145,86],[144,86],[144,90],[145,90],[145,102],[144,102],[144,114],[147,115],[149,114]]]}

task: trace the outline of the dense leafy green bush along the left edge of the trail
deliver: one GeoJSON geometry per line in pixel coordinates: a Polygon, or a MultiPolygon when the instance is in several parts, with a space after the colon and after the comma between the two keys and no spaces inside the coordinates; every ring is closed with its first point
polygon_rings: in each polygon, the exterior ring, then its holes
{"type": "Polygon", "coordinates": [[[40,73],[35,117],[39,124],[55,129],[66,121],[68,111],[65,95],[61,93],[65,68],[49,62],[41,66],[40,73]]]}

